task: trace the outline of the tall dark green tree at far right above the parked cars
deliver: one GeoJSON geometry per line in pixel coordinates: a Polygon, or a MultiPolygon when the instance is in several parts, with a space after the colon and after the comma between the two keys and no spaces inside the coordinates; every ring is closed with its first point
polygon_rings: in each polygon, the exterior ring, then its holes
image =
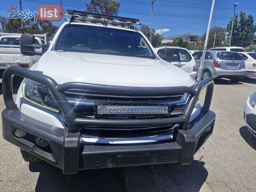
{"type": "MultiPolygon", "coordinates": [[[[241,11],[239,17],[240,21],[238,21],[238,15],[235,14],[231,45],[247,47],[252,43],[254,32],[256,32],[256,26],[254,26],[252,14],[248,14],[248,16],[246,16],[246,13],[241,11]]],[[[228,34],[231,34],[231,28],[232,18],[226,29],[228,34]]]]}

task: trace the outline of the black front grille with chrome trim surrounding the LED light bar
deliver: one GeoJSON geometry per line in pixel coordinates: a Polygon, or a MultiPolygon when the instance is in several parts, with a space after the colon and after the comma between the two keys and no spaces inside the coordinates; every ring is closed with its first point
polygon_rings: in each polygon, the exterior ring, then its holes
{"type": "MultiPolygon", "coordinates": [[[[72,105],[78,118],[96,118],[96,119],[156,119],[156,118],[172,118],[180,116],[184,110],[185,104],[180,101],[185,98],[185,93],[163,95],[155,93],[154,95],[128,94],[128,93],[108,93],[96,92],[91,90],[68,90],[64,92],[65,96],[72,101],[78,101],[72,105]],[[83,103],[85,102],[85,104],[83,103]],[[90,104],[87,104],[87,103],[90,104]],[[170,114],[107,114],[99,115],[96,113],[96,103],[111,104],[170,104],[170,114]],[[175,104],[174,104],[175,103],[175,104]]],[[[187,98],[187,96],[186,96],[187,98]]],[[[184,102],[184,100],[182,101],[184,102]]],[[[186,102],[186,101],[185,101],[186,102]]],[[[156,134],[170,133],[173,131],[174,125],[157,126],[157,127],[90,127],[82,126],[82,134],[99,137],[137,137],[150,136],[156,134]]]]}

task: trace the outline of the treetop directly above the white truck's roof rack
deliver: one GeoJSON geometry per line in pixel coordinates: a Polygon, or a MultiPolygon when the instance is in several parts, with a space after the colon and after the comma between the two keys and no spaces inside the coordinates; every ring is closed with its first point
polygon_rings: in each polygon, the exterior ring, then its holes
{"type": "Polygon", "coordinates": [[[86,2],[85,5],[88,12],[116,16],[121,4],[116,0],[91,0],[90,3],[86,2]]]}

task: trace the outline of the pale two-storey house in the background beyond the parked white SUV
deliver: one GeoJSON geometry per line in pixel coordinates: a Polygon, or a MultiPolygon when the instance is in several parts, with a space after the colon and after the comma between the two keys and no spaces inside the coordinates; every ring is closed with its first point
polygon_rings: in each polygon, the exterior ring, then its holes
{"type": "Polygon", "coordinates": [[[196,42],[198,42],[199,35],[194,34],[194,33],[178,34],[178,35],[164,38],[162,40],[162,44],[166,45],[166,46],[170,46],[174,39],[177,41],[178,38],[180,38],[180,37],[183,39],[183,41],[187,41],[189,43],[196,43],[196,42]]]}

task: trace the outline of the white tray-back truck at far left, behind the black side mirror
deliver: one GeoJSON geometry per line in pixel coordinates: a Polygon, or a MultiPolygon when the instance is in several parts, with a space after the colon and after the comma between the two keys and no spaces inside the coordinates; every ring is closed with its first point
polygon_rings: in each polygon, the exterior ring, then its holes
{"type": "MultiPolygon", "coordinates": [[[[20,36],[21,34],[12,34],[12,33],[0,33],[0,77],[6,68],[10,66],[20,66],[23,68],[30,68],[32,65],[39,60],[40,56],[26,56],[22,55],[20,52],[20,36]]],[[[35,44],[43,45],[46,44],[46,41],[41,36],[36,35],[35,44]]],[[[42,52],[42,48],[38,47],[35,49],[36,52],[42,52]]]]}

